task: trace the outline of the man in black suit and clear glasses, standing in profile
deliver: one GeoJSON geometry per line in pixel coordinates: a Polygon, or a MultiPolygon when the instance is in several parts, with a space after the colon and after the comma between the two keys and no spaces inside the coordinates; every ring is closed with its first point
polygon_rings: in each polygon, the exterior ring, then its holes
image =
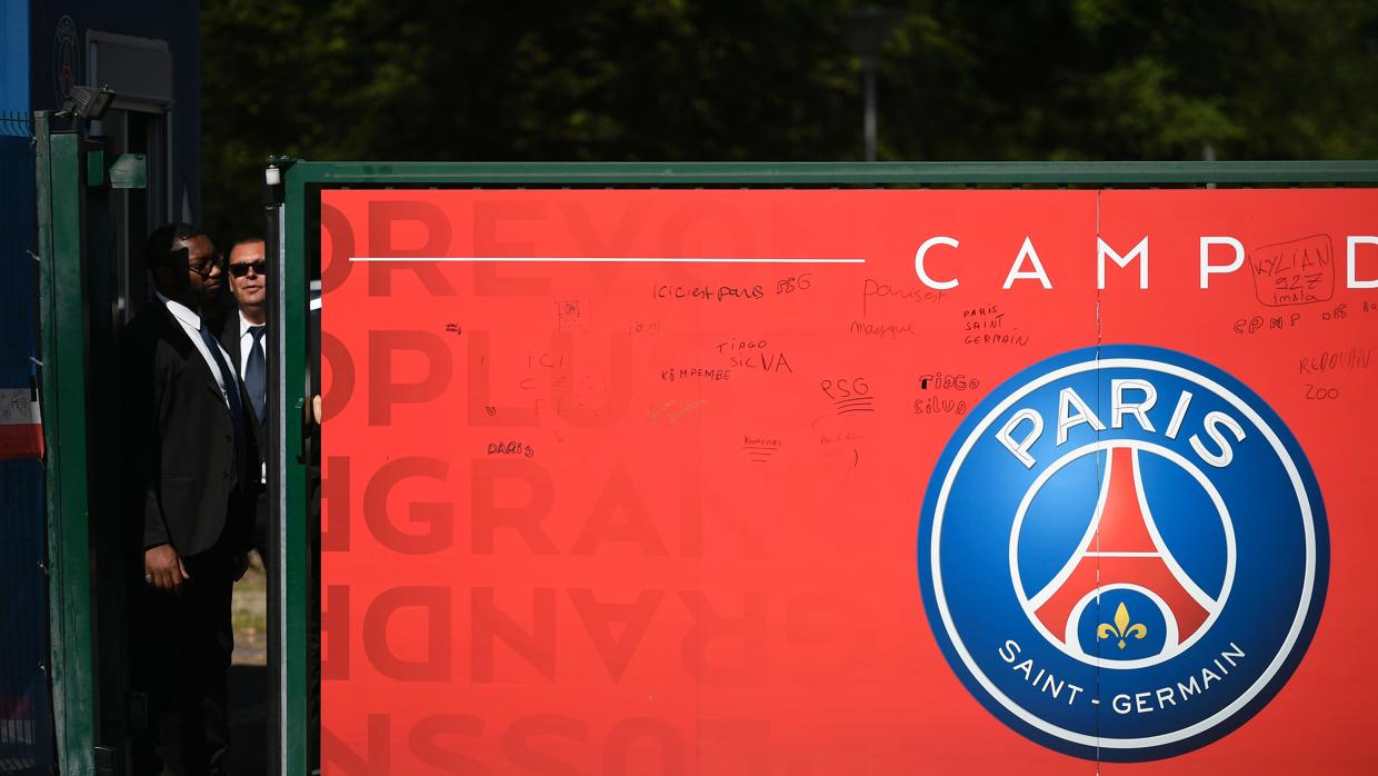
{"type": "Polygon", "coordinates": [[[230,595],[249,544],[258,451],[248,400],[201,318],[223,277],[215,247],[171,223],[153,232],[145,258],[157,299],[121,340],[125,509],[143,560],[131,600],[134,684],[147,693],[135,773],[223,773],[230,595]]]}

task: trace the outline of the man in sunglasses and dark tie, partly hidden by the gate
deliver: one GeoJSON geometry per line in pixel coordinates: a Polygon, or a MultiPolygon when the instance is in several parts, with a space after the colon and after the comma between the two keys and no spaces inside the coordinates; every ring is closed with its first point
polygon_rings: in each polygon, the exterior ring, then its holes
{"type": "MultiPolygon", "coordinates": [[[[238,313],[230,312],[218,327],[220,345],[230,354],[230,364],[248,394],[254,409],[252,429],[259,452],[267,449],[267,261],[263,254],[263,240],[248,237],[230,247],[229,263],[225,266],[230,281],[230,295],[238,313]]],[[[263,473],[263,460],[258,462],[263,473]]],[[[262,478],[260,478],[262,482],[262,478]]],[[[254,546],[266,566],[267,551],[267,489],[259,489],[254,506],[254,546]]]]}

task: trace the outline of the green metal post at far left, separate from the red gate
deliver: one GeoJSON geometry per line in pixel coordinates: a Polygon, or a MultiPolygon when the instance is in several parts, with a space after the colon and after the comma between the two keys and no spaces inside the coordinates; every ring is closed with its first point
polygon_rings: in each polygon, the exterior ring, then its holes
{"type": "Polygon", "coordinates": [[[48,627],[58,766],[95,770],[87,487],[85,168],[81,139],[36,116],[43,433],[47,447],[48,627]]]}

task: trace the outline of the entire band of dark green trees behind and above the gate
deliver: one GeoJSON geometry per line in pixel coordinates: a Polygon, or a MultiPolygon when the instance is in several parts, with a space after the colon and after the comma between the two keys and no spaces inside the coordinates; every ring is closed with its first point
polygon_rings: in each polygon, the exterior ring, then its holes
{"type": "MultiPolygon", "coordinates": [[[[856,6],[207,0],[207,223],[260,223],[256,171],[274,153],[858,159],[856,6]]],[[[1371,0],[893,6],[882,159],[1378,154],[1371,0]]]]}

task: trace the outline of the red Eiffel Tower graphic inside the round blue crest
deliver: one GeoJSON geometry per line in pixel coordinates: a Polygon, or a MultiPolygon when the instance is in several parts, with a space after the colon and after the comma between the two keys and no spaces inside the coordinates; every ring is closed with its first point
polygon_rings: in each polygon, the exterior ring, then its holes
{"type": "MultiPolygon", "coordinates": [[[[1087,656],[1078,638],[1080,613],[1104,590],[1135,590],[1158,605],[1167,629],[1160,659],[1171,656],[1200,631],[1221,604],[1182,571],[1163,544],[1144,498],[1138,455],[1134,448],[1111,448],[1097,513],[1080,547],[1028,601],[1028,611],[1047,633],[1080,656],[1087,656]]],[[[1123,612],[1116,613],[1119,619],[1123,612]]],[[[1102,620],[1109,617],[1097,622],[1102,620]]],[[[1126,624],[1118,624],[1123,641],[1126,624]]]]}

